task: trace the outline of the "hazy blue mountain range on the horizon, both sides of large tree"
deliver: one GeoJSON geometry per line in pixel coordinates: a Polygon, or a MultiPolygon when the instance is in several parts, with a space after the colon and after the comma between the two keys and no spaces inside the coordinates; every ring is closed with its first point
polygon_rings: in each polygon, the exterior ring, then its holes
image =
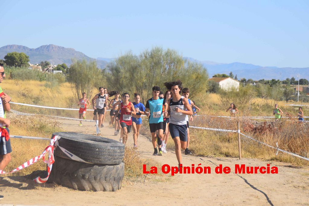
{"type": "MultiPolygon", "coordinates": [[[[88,57],[82,52],[75,51],[73,48],[64,48],[61,46],[49,44],[43,45],[38,48],[28,48],[20,45],[6,45],[0,48],[0,59],[10,52],[23,52],[29,56],[30,62],[32,64],[40,63],[41,61],[49,61],[52,64],[62,64],[66,63],[70,65],[72,63],[71,59],[86,59],[97,61],[98,67],[103,69],[110,61],[114,58],[103,58],[99,57],[97,59],[88,57]]],[[[194,58],[184,57],[189,61],[196,61],[204,65],[207,69],[208,74],[212,77],[214,74],[229,74],[231,71],[234,75],[237,74],[238,79],[280,79],[284,80],[286,78],[296,77],[298,73],[300,78],[309,79],[309,67],[306,68],[277,68],[275,66],[260,66],[253,64],[245,64],[240,62],[234,63],[218,63],[213,61],[199,61],[194,58]]]]}

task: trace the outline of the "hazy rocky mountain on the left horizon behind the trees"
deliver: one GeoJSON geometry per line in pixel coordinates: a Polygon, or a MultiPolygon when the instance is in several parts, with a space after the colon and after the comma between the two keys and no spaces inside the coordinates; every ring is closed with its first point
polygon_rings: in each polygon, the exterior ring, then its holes
{"type": "Polygon", "coordinates": [[[0,48],[0,59],[3,59],[7,53],[10,52],[23,52],[29,56],[30,63],[37,64],[41,61],[49,61],[52,64],[67,65],[72,64],[71,59],[86,59],[87,61],[95,60],[99,68],[103,69],[108,63],[104,60],[93,59],[85,54],[75,51],[73,48],[65,48],[53,44],[43,45],[38,48],[28,48],[21,45],[6,45],[0,48]]]}

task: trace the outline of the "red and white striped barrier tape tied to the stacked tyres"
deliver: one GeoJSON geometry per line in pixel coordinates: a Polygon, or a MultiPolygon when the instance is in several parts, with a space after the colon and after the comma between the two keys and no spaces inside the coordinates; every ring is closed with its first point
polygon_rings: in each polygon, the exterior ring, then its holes
{"type": "MultiPolygon", "coordinates": [[[[22,165],[20,165],[19,167],[15,168],[14,170],[12,170],[11,172],[9,172],[8,174],[17,172],[19,170],[22,170],[23,168],[26,168],[34,163],[36,163],[38,160],[43,158],[43,161],[47,164],[47,177],[45,178],[41,178],[41,177],[37,177],[36,179],[34,179],[35,182],[37,183],[45,183],[47,181],[47,179],[49,178],[49,174],[50,171],[52,170],[52,166],[53,163],[55,162],[54,159],[54,144],[55,142],[60,139],[59,136],[54,136],[51,140],[50,140],[50,144],[49,146],[47,146],[44,151],[42,152],[41,155],[36,156],[30,160],[28,160],[27,162],[23,163],[22,165]],[[48,152],[48,160],[45,160],[45,154],[48,152]]],[[[5,171],[0,170],[0,174],[6,174],[5,171]]]]}

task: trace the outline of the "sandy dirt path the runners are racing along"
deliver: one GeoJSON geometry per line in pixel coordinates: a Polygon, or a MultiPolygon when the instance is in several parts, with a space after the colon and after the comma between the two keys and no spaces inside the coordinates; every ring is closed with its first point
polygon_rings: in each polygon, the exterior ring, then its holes
{"type": "MultiPolygon", "coordinates": [[[[93,134],[94,123],[61,120],[66,131],[93,134]]],[[[119,140],[113,136],[113,128],[104,124],[101,132],[104,137],[119,140]]],[[[128,146],[133,146],[129,136],[128,146]]],[[[171,139],[170,139],[171,140],[171,139]]],[[[168,151],[163,156],[152,156],[153,148],[148,138],[140,136],[138,152],[146,158],[154,158],[163,164],[177,165],[175,152],[168,151]]],[[[124,183],[116,192],[75,191],[66,187],[45,184],[36,187],[23,177],[6,177],[1,180],[0,194],[5,195],[0,204],[34,205],[146,205],[146,204],[185,204],[185,205],[308,205],[309,170],[292,167],[290,164],[263,162],[255,159],[206,158],[185,156],[184,165],[199,163],[210,166],[211,174],[166,174],[162,181],[124,183]],[[235,164],[246,166],[277,166],[279,174],[235,174],[235,164]],[[229,166],[230,174],[215,174],[219,164],[229,166]]],[[[161,166],[160,165],[160,166],[161,166]]],[[[160,168],[158,168],[160,170],[160,168]]]]}

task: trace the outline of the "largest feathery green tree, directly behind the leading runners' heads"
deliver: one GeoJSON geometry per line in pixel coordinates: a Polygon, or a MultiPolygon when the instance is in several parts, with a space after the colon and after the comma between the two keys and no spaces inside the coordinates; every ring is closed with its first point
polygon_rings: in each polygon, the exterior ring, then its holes
{"type": "Polygon", "coordinates": [[[138,92],[143,102],[151,97],[152,87],[159,86],[164,91],[164,82],[180,79],[184,87],[190,88],[190,96],[207,89],[208,74],[199,63],[184,60],[172,49],[155,47],[140,55],[126,53],[107,66],[109,90],[138,92]]]}

